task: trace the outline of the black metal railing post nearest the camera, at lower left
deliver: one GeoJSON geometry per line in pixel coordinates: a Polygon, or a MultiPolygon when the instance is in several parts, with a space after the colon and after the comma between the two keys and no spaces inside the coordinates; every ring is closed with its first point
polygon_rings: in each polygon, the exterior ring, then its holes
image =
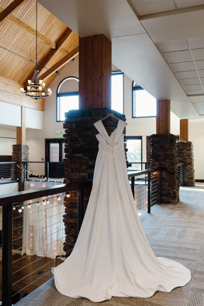
{"type": "Polygon", "coordinates": [[[2,306],[12,305],[12,204],[2,207],[2,306]]]}

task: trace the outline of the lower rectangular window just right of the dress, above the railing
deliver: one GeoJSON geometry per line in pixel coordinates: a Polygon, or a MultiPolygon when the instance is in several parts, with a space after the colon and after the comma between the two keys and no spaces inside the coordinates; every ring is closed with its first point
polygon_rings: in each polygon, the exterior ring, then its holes
{"type": "Polygon", "coordinates": [[[128,170],[141,170],[142,164],[142,136],[127,136],[127,158],[128,163],[132,163],[132,166],[128,167],[128,170]]]}

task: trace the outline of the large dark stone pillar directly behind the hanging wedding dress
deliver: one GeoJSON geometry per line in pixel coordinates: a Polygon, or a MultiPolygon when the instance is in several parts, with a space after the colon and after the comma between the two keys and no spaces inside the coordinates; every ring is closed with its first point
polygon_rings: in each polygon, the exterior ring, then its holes
{"type": "MultiPolygon", "coordinates": [[[[110,112],[109,108],[93,108],[70,110],[65,113],[65,180],[64,183],[76,181],[92,181],[96,156],[98,153],[98,134],[94,123],[104,118],[110,112]]],[[[125,115],[112,111],[121,120],[125,115]]],[[[110,135],[117,127],[117,120],[109,117],[103,121],[107,133],[110,135]]],[[[125,134],[125,129],[124,129],[125,134]]],[[[125,154],[127,139],[124,139],[125,154]]],[[[126,154],[127,155],[127,154],[126,154]]],[[[127,156],[126,156],[127,160],[127,156]]],[[[91,187],[84,190],[84,213],[87,208],[91,187]]],[[[70,254],[77,238],[77,192],[72,192],[70,198],[65,197],[65,243],[64,251],[70,254]]]]}

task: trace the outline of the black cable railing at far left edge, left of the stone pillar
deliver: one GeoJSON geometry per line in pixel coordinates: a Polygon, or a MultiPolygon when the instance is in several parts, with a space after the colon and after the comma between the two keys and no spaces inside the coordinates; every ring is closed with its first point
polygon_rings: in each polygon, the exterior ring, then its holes
{"type": "Polygon", "coordinates": [[[0,162],[0,183],[16,181],[16,162],[0,162]]]}

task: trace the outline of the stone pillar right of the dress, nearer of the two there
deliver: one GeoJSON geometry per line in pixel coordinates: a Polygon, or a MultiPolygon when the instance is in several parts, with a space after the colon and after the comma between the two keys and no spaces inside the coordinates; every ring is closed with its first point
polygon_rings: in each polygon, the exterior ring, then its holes
{"type": "Polygon", "coordinates": [[[176,136],[153,134],[150,138],[150,167],[162,167],[161,203],[179,202],[178,166],[176,159],[176,136]]]}

